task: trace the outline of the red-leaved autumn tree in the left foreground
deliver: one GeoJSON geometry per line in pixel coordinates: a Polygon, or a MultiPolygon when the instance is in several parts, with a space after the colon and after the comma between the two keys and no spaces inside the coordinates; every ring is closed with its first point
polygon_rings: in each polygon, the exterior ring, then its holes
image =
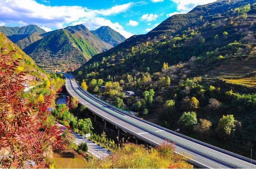
{"type": "Polygon", "coordinates": [[[12,155],[0,159],[0,163],[4,168],[28,168],[26,161],[32,160],[38,168],[46,168],[43,152],[63,149],[70,136],[61,137],[63,131],[47,110],[56,98],[53,86],[42,102],[22,97],[22,77],[27,72],[14,73],[21,60],[14,60],[14,53],[6,53],[3,47],[0,51],[0,151],[12,155]]]}

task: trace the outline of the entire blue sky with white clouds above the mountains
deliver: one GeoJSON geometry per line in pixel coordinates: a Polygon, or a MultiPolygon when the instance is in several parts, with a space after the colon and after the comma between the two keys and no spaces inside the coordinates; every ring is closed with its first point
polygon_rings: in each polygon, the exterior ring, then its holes
{"type": "Polygon", "coordinates": [[[145,34],[173,14],[216,0],[0,0],[0,26],[38,25],[51,31],[83,24],[100,26],[129,38],[145,34]]]}

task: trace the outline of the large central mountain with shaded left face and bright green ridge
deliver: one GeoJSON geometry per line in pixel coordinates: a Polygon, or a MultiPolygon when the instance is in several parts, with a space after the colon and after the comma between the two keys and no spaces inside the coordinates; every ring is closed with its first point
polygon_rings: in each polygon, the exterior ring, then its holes
{"type": "Polygon", "coordinates": [[[113,46],[100,40],[84,25],[41,34],[43,38],[32,43],[24,52],[44,69],[77,69],[93,55],[113,46]]]}

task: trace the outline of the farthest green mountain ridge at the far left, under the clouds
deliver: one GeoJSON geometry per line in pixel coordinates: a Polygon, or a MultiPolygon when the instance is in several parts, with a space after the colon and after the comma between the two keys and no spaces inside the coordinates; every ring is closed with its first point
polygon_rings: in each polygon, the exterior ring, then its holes
{"type": "Polygon", "coordinates": [[[6,26],[0,26],[0,31],[3,32],[6,36],[12,36],[12,35],[23,35],[23,34],[30,34],[30,33],[45,33],[42,28],[39,28],[36,25],[28,25],[23,27],[6,27],[6,26]]]}

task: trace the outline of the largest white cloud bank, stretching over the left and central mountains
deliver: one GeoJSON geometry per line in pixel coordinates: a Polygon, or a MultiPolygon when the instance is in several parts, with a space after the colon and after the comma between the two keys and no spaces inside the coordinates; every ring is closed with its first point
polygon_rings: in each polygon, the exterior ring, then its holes
{"type": "Polygon", "coordinates": [[[39,27],[60,29],[64,25],[71,25],[72,23],[94,23],[94,26],[91,27],[104,26],[100,21],[93,20],[94,18],[101,18],[103,23],[108,23],[106,26],[112,25],[111,28],[115,28],[117,32],[129,37],[132,34],[126,32],[121,25],[112,23],[101,16],[115,15],[127,11],[134,5],[143,4],[145,4],[144,1],[130,2],[109,9],[91,10],[82,6],[49,6],[39,4],[35,0],[0,0],[0,20],[6,24],[22,21],[39,27]]]}

